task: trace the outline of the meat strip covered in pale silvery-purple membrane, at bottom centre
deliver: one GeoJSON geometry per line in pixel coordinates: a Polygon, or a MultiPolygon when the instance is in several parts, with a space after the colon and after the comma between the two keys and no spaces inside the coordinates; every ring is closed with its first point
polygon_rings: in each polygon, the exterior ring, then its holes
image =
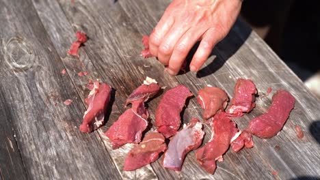
{"type": "Polygon", "coordinates": [[[202,124],[196,118],[191,119],[190,123],[170,140],[168,150],[163,156],[163,167],[180,171],[185,155],[201,145],[203,136],[202,124]]]}

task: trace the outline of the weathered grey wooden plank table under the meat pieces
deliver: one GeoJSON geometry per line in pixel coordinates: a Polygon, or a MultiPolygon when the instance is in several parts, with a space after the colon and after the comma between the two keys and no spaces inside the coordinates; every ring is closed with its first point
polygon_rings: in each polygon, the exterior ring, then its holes
{"type": "MultiPolygon", "coordinates": [[[[169,0],[1,0],[0,1],[0,179],[299,179],[320,175],[320,102],[277,55],[237,21],[228,37],[198,74],[170,76],[155,58],[139,56],[142,35],[155,27],[169,0]],[[75,31],[90,40],[79,59],[67,55],[75,31]],[[213,61],[214,59],[214,61],[213,61]],[[66,74],[60,72],[66,69],[66,74]],[[78,76],[88,72],[88,76],[78,76]],[[112,150],[104,132],[124,112],[133,89],[150,76],[159,85],[186,85],[196,92],[206,85],[225,89],[229,97],[237,78],[252,79],[259,91],[256,108],[234,119],[240,129],[261,115],[278,89],[296,98],[283,130],[271,139],[254,137],[254,148],[228,151],[215,175],[202,170],[189,153],[181,172],[161,160],[133,172],[122,171],[132,145],[112,150]],[[79,131],[89,79],[116,89],[107,124],[91,134],[79,131]],[[273,91],[267,95],[267,89],[273,91]],[[73,100],[66,106],[63,102],[73,100]],[[296,136],[295,125],[304,138],[296,136]]],[[[161,95],[148,102],[151,122],[161,95]]],[[[201,117],[196,98],[183,122],[201,117]]],[[[205,126],[206,138],[211,135],[205,126]]]]}

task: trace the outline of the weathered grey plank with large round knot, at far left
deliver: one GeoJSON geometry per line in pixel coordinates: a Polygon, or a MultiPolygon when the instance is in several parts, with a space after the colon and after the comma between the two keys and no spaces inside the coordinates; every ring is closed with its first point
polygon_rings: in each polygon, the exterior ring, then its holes
{"type": "Polygon", "coordinates": [[[0,18],[1,106],[27,179],[119,179],[98,134],[77,128],[85,108],[68,74],[60,74],[64,65],[31,1],[0,6],[6,15],[0,18]],[[73,103],[65,106],[69,98],[73,103]]]}

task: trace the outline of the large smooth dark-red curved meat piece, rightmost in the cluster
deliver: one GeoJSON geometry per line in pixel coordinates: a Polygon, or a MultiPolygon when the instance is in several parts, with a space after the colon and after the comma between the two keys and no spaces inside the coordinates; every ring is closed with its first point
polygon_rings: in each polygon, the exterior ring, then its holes
{"type": "Polygon", "coordinates": [[[280,132],[294,106],[295,97],[288,91],[278,90],[267,112],[250,120],[248,132],[259,138],[272,138],[280,132]]]}

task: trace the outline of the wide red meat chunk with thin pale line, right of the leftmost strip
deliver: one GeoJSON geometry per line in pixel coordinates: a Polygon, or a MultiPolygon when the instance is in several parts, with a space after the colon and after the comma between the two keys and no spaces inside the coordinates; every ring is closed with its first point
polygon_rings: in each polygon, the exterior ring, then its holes
{"type": "Polygon", "coordinates": [[[142,132],[148,126],[149,113],[144,108],[142,100],[135,101],[132,108],[126,110],[105,135],[111,140],[113,149],[117,149],[126,143],[139,143],[142,132]]]}

